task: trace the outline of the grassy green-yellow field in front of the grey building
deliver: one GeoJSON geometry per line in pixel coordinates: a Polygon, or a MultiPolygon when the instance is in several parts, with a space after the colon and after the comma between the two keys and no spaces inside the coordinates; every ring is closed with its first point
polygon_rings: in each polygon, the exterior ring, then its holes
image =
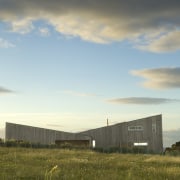
{"type": "Polygon", "coordinates": [[[3,147],[0,179],[179,180],[180,157],[3,147]]]}

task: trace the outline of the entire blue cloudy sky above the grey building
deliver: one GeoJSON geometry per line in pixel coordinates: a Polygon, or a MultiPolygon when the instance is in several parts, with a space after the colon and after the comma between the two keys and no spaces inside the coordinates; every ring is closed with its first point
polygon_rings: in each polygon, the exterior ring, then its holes
{"type": "Polygon", "coordinates": [[[179,133],[179,17],[178,0],[0,0],[0,129],[162,114],[179,133]]]}

